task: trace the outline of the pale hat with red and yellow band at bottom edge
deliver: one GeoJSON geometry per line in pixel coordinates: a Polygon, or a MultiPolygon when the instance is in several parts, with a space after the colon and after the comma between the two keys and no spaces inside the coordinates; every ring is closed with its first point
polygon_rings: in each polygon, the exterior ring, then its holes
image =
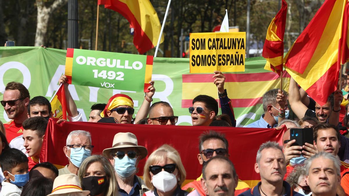
{"type": "MultiPolygon", "coordinates": [[[[52,193],[50,195],[59,195],[67,193],[81,193],[81,195],[90,194],[89,190],[82,190],[80,180],[75,174],[64,174],[54,179],[52,193]]],[[[47,195],[49,196],[49,195],[47,195]]]]}

